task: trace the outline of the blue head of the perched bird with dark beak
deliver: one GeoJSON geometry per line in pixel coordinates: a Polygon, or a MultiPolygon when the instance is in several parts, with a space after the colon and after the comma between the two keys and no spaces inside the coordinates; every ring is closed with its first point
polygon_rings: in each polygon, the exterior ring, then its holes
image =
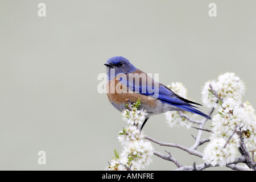
{"type": "Polygon", "coordinates": [[[122,56],[111,57],[104,65],[108,67],[108,73],[110,72],[110,69],[114,69],[115,75],[119,73],[132,73],[137,69],[129,60],[122,56]]]}

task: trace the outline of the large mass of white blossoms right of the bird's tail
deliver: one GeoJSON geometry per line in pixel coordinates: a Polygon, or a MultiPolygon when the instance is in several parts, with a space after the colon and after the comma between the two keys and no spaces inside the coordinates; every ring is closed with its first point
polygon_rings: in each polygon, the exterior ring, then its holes
{"type": "Polygon", "coordinates": [[[255,158],[256,115],[248,101],[242,103],[244,91],[245,85],[234,73],[225,73],[217,81],[207,82],[203,88],[204,104],[217,107],[218,112],[212,119],[212,134],[203,156],[212,166],[225,166],[236,159],[240,135],[251,157],[255,158]]]}

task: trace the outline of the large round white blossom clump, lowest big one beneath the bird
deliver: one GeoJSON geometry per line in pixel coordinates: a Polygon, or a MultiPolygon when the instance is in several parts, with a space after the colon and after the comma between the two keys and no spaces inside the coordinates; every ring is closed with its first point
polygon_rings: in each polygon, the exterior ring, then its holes
{"type": "Polygon", "coordinates": [[[145,168],[152,162],[154,148],[151,142],[145,140],[134,140],[129,142],[121,154],[122,158],[133,161],[138,168],[145,168]]]}

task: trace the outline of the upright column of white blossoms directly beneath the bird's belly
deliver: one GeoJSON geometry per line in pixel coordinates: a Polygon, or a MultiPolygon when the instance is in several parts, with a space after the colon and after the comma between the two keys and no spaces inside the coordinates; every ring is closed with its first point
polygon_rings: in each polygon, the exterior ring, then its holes
{"type": "Polygon", "coordinates": [[[152,162],[154,148],[151,142],[143,139],[144,134],[138,129],[138,125],[144,121],[146,115],[145,110],[138,110],[135,106],[131,110],[123,110],[123,121],[131,125],[119,131],[118,140],[123,146],[123,151],[120,157],[110,162],[106,167],[107,170],[140,170],[152,162]]]}

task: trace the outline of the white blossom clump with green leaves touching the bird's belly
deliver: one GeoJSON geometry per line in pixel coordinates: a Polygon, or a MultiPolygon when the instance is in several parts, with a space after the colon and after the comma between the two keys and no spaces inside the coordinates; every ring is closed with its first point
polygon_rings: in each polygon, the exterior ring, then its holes
{"type": "Polygon", "coordinates": [[[126,121],[131,125],[142,124],[144,119],[146,118],[147,112],[145,110],[137,110],[136,107],[133,107],[133,110],[130,111],[125,109],[122,111],[123,121],[126,121]]]}

